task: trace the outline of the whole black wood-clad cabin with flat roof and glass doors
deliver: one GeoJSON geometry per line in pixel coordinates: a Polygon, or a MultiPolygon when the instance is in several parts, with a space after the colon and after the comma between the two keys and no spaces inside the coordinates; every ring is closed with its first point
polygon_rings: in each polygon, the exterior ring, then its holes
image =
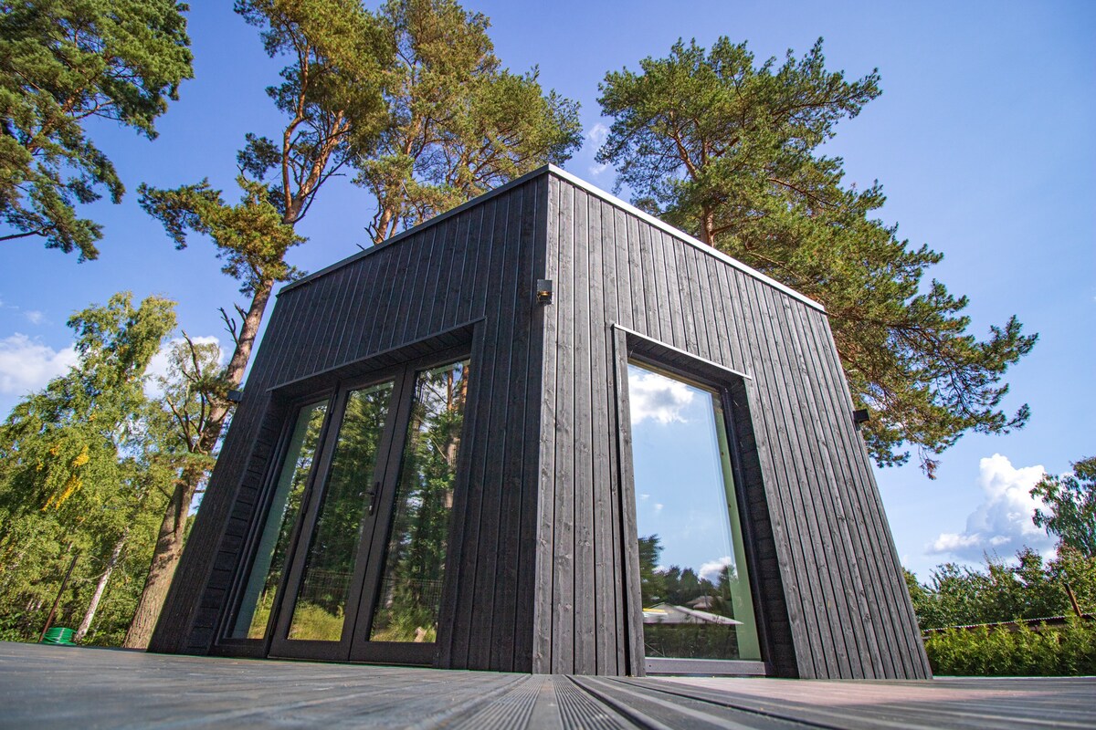
{"type": "Polygon", "coordinates": [[[286,286],[151,650],[925,677],[823,309],[557,167],[286,286]]]}

